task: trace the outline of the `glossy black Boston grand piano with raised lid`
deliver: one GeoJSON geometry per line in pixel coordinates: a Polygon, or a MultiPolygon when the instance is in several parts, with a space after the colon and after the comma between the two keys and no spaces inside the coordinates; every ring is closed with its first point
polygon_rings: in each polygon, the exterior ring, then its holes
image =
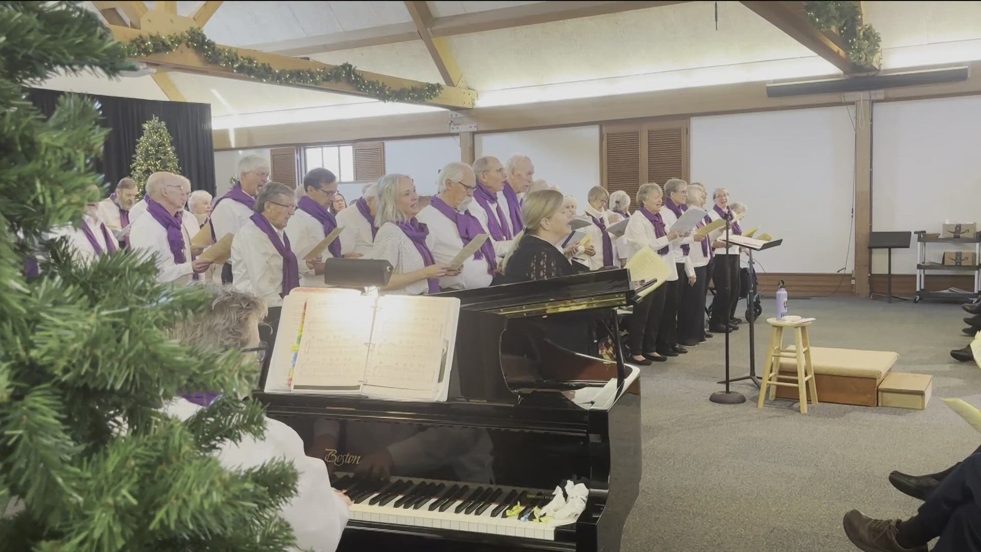
{"type": "Polygon", "coordinates": [[[445,403],[256,393],[354,502],[339,549],[618,550],[641,475],[639,372],[612,326],[628,272],[441,295],[461,302],[445,403]],[[570,323],[605,324],[616,359],[558,345],[570,323]],[[523,516],[565,481],[589,488],[574,524],[523,516]]]}

